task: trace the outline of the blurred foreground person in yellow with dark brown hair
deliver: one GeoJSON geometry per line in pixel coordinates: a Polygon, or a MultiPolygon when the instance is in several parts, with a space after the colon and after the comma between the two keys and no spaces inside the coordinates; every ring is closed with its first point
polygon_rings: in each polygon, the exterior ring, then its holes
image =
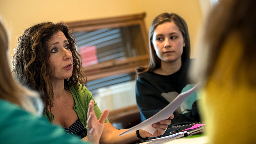
{"type": "Polygon", "coordinates": [[[201,81],[211,144],[256,143],[255,19],[255,0],[221,0],[202,31],[191,76],[201,81]]]}

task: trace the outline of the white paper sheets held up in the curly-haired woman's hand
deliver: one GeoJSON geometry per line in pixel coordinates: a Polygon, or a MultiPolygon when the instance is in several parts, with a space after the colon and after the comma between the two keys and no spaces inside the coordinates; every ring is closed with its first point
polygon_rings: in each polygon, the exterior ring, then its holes
{"type": "Polygon", "coordinates": [[[143,129],[151,134],[154,134],[156,129],[152,128],[151,125],[161,120],[168,119],[171,116],[171,114],[183,103],[183,101],[186,100],[186,98],[188,98],[192,93],[196,91],[197,86],[198,84],[190,90],[180,93],[173,101],[171,101],[170,104],[164,107],[161,111],[159,111],[152,117],[148,118],[147,120],[141,122],[140,124],[135,125],[134,127],[128,129],[127,131],[119,134],[119,136],[129,134],[131,132],[137,131],[138,129],[143,129]]]}

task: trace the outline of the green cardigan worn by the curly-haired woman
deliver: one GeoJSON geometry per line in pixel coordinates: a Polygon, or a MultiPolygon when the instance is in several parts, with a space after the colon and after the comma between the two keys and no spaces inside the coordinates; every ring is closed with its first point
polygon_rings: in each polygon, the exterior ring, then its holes
{"type": "MultiPolygon", "coordinates": [[[[93,99],[92,93],[89,92],[89,90],[86,89],[85,86],[81,90],[81,85],[80,85],[80,88],[77,90],[74,88],[74,85],[70,85],[69,90],[75,100],[74,110],[77,112],[77,116],[81,121],[82,125],[84,126],[84,128],[86,126],[87,112],[88,112],[89,103],[91,100],[94,101],[94,111],[95,111],[96,117],[97,119],[100,119],[100,115],[102,114],[102,112],[100,111],[100,108],[97,106],[97,103],[93,99]]],[[[49,112],[49,114],[51,113],[49,112]]],[[[53,119],[54,119],[54,115],[52,114],[51,123],[53,122],[53,119]]],[[[109,122],[109,121],[106,119],[105,122],[109,122]]],[[[85,130],[85,136],[86,136],[86,130],[85,130]]]]}

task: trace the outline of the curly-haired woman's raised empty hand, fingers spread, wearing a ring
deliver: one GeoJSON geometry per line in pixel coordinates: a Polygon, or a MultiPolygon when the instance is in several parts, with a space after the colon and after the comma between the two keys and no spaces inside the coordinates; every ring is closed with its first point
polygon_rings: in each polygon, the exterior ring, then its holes
{"type": "Polygon", "coordinates": [[[104,121],[108,116],[108,109],[106,109],[100,116],[100,119],[97,120],[96,114],[94,112],[94,103],[93,100],[91,100],[89,104],[89,109],[88,109],[88,115],[87,115],[87,135],[85,139],[88,142],[92,142],[95,144],[99,144],[100,142],[100,136],[103,132],[104,128],[104,121]]]}

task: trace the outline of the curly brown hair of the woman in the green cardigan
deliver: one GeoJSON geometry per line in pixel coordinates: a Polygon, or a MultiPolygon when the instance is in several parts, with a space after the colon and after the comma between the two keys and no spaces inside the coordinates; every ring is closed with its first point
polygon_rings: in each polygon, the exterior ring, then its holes
{"type": "MultiPolygon", "coordinates": [[[[73,57],[73,74],[64,80],[64,87],[81,84],[86,86],[86,76],[81,66],[81,56],[76,50],[76,43],[68,26],[62,23],[43,22],[29,27],[19,37],[18,44],[13,50],[12,72],[22,85],[39,91],[44,103],[44,111],[51,120],[48,111],[54,104],[53,87],[50,82],[48,40],[58,31],[62,31],[70,45],[73,57]]],[[[54,70],[50,70],[54,72],[54,70]]]]}

